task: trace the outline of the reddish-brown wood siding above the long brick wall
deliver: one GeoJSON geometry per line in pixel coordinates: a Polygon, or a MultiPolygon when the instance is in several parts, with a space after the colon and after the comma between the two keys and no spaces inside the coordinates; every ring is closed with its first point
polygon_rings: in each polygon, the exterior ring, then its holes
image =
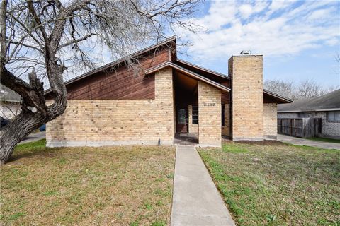
{"type": "Polygon", "coordinates": [[[168,49],[157,49],[140,56],[140,73],[125,65],[100,71],[67,85],[67,100],[154,99],[154,76],[144,71],[169,60],[168,49]]]}

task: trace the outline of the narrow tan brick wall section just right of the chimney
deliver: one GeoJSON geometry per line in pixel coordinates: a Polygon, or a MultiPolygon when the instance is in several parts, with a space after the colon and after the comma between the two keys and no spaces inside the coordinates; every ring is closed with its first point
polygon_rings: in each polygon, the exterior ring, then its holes
{"type": "Polygon", "coordinates": [[[266,139],[276,140],[278,134],[278,119],[276,104],[263,106],[263,133],[266,139]]]}

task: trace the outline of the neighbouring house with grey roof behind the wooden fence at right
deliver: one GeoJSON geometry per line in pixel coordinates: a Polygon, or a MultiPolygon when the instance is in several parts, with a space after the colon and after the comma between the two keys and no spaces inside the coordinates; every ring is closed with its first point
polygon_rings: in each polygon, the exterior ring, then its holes
{"type": "Polygon", "coordinates": [[[321,97],[278,105],[279,119],[321,118],[319,136],[340,138],[340,89],[321,97]]]}

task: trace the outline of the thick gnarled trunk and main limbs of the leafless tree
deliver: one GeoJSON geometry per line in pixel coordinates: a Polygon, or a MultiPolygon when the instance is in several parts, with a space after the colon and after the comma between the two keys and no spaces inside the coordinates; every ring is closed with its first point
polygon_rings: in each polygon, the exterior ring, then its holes
{"type": "MultiPolygon", "coordinates": [[[[60,114],[64,113],[67,105],[66,87],[62,78],[62,73],[66,69],[63,65],[58,64],[56,57],[57,48],[60,45],[67,16],[72,16],[74,11],[77,11],[79,2],[75,1],[69,8],[60,7],[60,12],[56,20],[53,22],[54,28],[50,35],[47,35],[45,28],[42,26],[40,16],[37,15],[33,6],[33,1],[27,1],[28,11],[43,37],[44,47],[41,49],[45,57],[46,75],[50,82],[50,88],[55,95],[55,100],[52,105],[47,106],[45,103],[43,83],[37,78],[34,70],[28,74],[30,83],[26,83],[21,78],[15,76],[11,71],[8,71],[5,65],[8,63],[6,51],[8,50],[8,42],[6,41],[6,18],[7,18],[7,3],[1,1],[0,7],[0,81],[11,90],[16,91],[23,98],[22,111],[8,125],[0,131],[0,163],[8,161],[13,153],[13,148],[25,136],[31,133],[34,129],[45,124],[47,121],[55,119],[60,114]],[[36,112],[30,111],[34,107],[36,112]],[[30,108],[30,109],[29,109],[30,108]]],[[[81,3],[86,6],[87,1],[81,3]]],[[[60,4],[61,5],[61,4],[60,4]]],[[[29,16],[28,16],[29,17],[29,16]]],[[[52,20],[51,20],[52,21],[52,20]]]]}

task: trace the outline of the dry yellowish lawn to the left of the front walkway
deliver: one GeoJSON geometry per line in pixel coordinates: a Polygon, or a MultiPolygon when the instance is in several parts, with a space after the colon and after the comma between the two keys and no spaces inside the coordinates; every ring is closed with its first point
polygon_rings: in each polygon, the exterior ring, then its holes
{"type": "Polygon", "coordinates": [[[1,166],[0,225],[166,225],[173,147],[18,145],[1,166]]]}

